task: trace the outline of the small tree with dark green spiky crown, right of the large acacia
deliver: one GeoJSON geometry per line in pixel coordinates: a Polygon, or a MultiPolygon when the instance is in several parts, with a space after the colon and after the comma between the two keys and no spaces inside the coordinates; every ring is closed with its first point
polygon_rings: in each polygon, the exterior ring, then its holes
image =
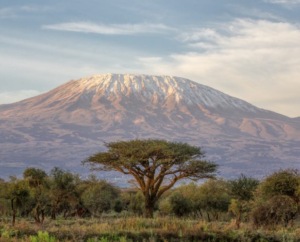
{"type": "Polygon", "coordinates": [[[240,227],[242,212],[247,208],[248,202],[253,198],[260,181],[246,177],[244,174],[237,179],[228,181],[229,192],[233,196],[229,212],[236,215],[235,225],[240,227]]]}

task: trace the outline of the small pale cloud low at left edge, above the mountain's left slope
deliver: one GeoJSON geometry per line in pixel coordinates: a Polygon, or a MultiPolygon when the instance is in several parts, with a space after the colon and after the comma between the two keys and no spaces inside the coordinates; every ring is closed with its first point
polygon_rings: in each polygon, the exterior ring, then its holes
{"type": "Polygon", "coordinates": [[[10,104],[41,94],[36,90],[20,90],[0,92],[0,104],[10,104]]]}

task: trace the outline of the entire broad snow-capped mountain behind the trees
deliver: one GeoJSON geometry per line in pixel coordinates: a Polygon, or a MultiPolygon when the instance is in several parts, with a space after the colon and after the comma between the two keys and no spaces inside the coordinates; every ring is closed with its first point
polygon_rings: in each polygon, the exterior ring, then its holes
{"type": "Polygon", "coordinates": [[[80,161],[103,142],[149,137],[203,147],[224,177],[300,165],[299,118],[185,78],[105,74],[0,105],[0,177],[28,166],[80,172],[80,161]]]}

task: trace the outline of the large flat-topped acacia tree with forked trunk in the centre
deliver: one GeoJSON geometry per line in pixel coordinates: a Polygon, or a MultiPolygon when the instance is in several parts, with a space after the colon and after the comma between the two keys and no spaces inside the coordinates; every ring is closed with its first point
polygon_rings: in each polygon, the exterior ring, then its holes
{"type": "Polygon", "coordinates": [[[105,143],[108,151],[96,153],[83,164],[96,171],[119,171],[134,178],[145,197],[146,216],[164,192],[181,179],[213,178],[218,165],[205,160],[200,147],[160,139],[134,139],[105,143]]]}

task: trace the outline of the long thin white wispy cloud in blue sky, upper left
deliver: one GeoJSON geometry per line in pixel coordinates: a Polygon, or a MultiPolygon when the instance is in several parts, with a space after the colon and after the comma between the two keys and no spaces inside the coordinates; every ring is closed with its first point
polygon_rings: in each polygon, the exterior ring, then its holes
{"type": "Polygon", "coordinates": [[[150,24],[150,23],[139,23],[139,24],[95,24],[91,22],[70,22],[43,25],[43,29],[50,30],[64,30],[64,31],[75,31],[85,33],[100,33],[100,34],[138,34],[138,33],[164,33],[170,30],[174,30],[164,24],[150,24]]]}

